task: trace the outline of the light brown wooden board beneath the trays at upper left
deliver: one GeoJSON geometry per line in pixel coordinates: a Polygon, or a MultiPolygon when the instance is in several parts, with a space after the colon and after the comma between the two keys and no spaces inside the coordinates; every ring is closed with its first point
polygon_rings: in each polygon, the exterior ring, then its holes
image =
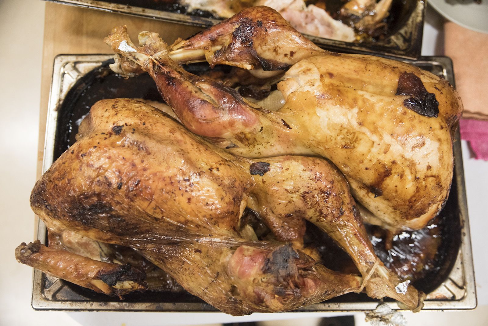
{"type": "Polygon", "coordinates": [[[112,54],[113,52],[108,45],[103,43],[103,38],[110,33],[112,27],[119,25],[127,25],[133,40],[137,40],[139,32],[146,30],[158,32],[163,40],[168,43],[172,43],[179,37],[189,37],[202,30],[201,27],[46,2],[42,53],[38,178],[41,176],[47,104],[54,58],[58,54],[112,54]]]}

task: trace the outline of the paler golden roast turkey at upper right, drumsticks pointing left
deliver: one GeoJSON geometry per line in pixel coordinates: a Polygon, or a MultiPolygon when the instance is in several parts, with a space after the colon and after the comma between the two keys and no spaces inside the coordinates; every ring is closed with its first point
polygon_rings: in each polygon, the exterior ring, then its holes
{"type": "Polygon", "coordinates": [[[105,41],[118,53],[116,72],[148,72],[181,122],[229,153],[332,161],[369,223],[391,232],[422,228],[447,200],[462,104],[447,81],[429,72],[322,50],[263,6],[170,47],[149,32],[136,46],[124,26],[105,41]],[[205,60],[255,75],[277,71],[285,104],[271,112],[180,66],[205,60]]]}

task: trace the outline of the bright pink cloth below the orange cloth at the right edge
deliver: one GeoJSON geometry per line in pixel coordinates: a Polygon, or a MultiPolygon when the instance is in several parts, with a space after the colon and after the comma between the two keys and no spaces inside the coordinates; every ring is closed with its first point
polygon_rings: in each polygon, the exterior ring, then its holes
{"type": "Polygon", "coordinates": [[[488,121],[461,119],[461,139],[469,142],[477,160],[488,161],[488,121]]]}

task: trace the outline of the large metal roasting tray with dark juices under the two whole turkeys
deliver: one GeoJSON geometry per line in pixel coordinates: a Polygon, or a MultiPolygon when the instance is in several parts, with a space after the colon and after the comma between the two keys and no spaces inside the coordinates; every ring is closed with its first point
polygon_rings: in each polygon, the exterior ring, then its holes
{"type": "MultiPolygon", "coordinates": [[[[120,97],[161,101],[154,82],[147,74],[123,79],[109,69],[108,64],[112,62],[111,55],[60,55],[55,59],[43,172],[75,142],[79,122],[95,102],[120,97]]],[[[454,83],[452,63],[448,58],[425,57],[408,62],[454,83]]],[[[209,69],[206,63],[192,64],[185,68],[195,74],[202,74],[209,69]]],[[[226,68],[217,66],[215,69],[226,68]]],[[[413,285],[427,293],[424,309],[469,309],[476,306],[459,135],[456,139],[453,183],[447,204],[439,217],[422,230],[395,236],[392,248],[388,251],[385,250],[384,235],[378,229],[368,229],[375,251],[386,265],[393,268],[396,264],[407,265],[405,273],[416,280],[413,285]],[[428,250],[432,247],[437,249],[428,250]],[[418,260],[419,252],[427,259],[418,260]],[[412,267],[415,264],[423,265],[424,268],[415,269],[412,267]]],[[[252,216],[249,218],[252,219],[252,216]]],[[[37,239],[47,244],[46,228],[41,221],[37,239]]],[[[312,225],[307,227],[305,241],[322,245],[317,249],[326,267],[334,270],[350,268],[351,261],[347,255],[333,245],[325,233],[312,225]]],[[[120,250],[123,249],[116,249],[120,250]]],[[[123,256],[130,255],[123,253],[123,256]]],[[[164,278],[163,275],[157,277],[160,284],[158,288],[143,294],[126,295],[125,300],[121,301],[48,276],[36,269],[32,306],[39,310],[217,311],[184,291],[172,279],[164,278]]],[[[393,301],[386,302],[392,308],[397,308],[393,301]]],[[[365,294],[349,293],[297,311],[358,311],[371,310],[377,305],[378,301],[365,294]]]]}

